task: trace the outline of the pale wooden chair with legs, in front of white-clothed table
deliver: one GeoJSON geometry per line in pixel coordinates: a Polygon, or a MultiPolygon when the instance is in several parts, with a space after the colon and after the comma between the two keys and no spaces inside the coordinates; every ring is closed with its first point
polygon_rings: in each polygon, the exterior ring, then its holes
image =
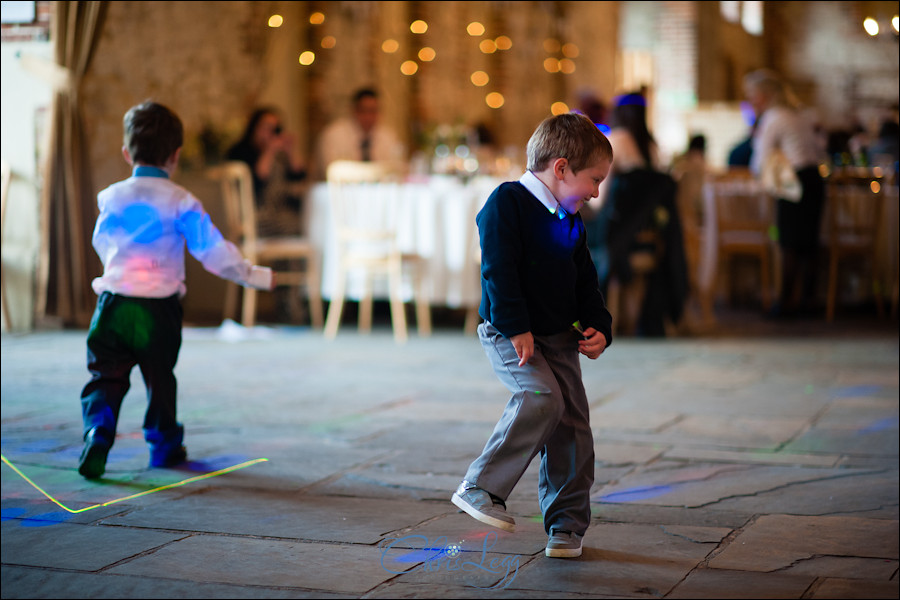
{"type": "MultiPolygon", "coordinates": [[[[335,161],[326,171],[331,218],[337,242],[337,278],[332,293],[325,337],[334,339],[340,326],[346,300],[348,277],[363,276],[363,295],[359,302],[359,330],[372,328],[372,280],[385,276],[391,306],[391,322],[397,343],[407,340],[406,312],[403,301],[404,271],[412,270],[416,325],[420,336],[431,335],[431,308],[425,293],[424,258],[404,253],[397,243],[396,201],[399,184],[386,181],[388,171],[378,163],[335,161]],[[392,186],[390,198],[373,198],[372,185],[392,186]],[[369,188],[367,191],[366,188],[369,188]]],[[[390,190],[389,190],[390,192],[390,190]]]]}

